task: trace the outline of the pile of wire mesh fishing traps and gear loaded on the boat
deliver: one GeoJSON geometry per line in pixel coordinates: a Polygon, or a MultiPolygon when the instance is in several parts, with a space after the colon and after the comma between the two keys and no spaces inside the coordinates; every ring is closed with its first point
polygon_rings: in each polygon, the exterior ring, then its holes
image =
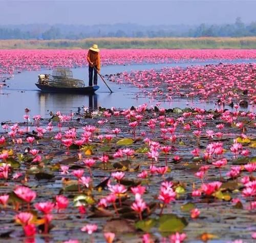
{"type": "Polygon", "coordinates": [[[84,87],[84,82],[73,78],[73,73],[69,69],[57,68],[51,74],[38,75],[38,83],[52,87],[84,87]]]}

